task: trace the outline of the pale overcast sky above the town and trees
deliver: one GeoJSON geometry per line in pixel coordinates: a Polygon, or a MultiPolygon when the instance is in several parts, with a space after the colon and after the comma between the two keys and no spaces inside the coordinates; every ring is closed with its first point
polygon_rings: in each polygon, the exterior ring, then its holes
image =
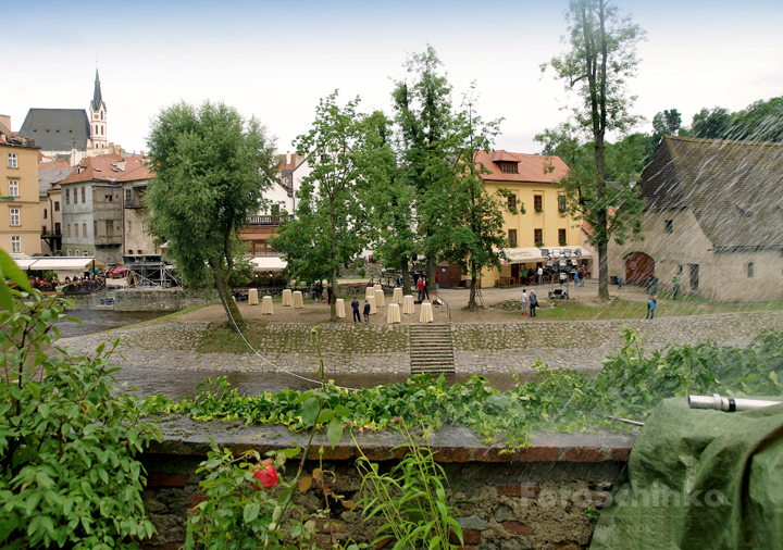
{"type": "MultiPolygon", "coordinates": [[[[651,121],[678,109],[744,109],[783,95],[783,2],[617,2],[647,32],[632,83],[635,111],[651,121]]],[[[390,113],[391,78],[431,43],[455,99],[472,80],[478,113],[505,117],[496,148],[533,153],[535,134],[564,120],[572,101],[539,65],[564,50],[564,0],[157,1],[2,9],[0,114],[17,130],[30,108],[87,109],[96,60],[109,140],[147,148],[150,120],[179,100],[204,99],[254,115],[281,151],[308,130],[319,98],[339,88],[362,109],[390,113]]],[[[649,124],[639,127],[648,130],[649,124]]]]}

